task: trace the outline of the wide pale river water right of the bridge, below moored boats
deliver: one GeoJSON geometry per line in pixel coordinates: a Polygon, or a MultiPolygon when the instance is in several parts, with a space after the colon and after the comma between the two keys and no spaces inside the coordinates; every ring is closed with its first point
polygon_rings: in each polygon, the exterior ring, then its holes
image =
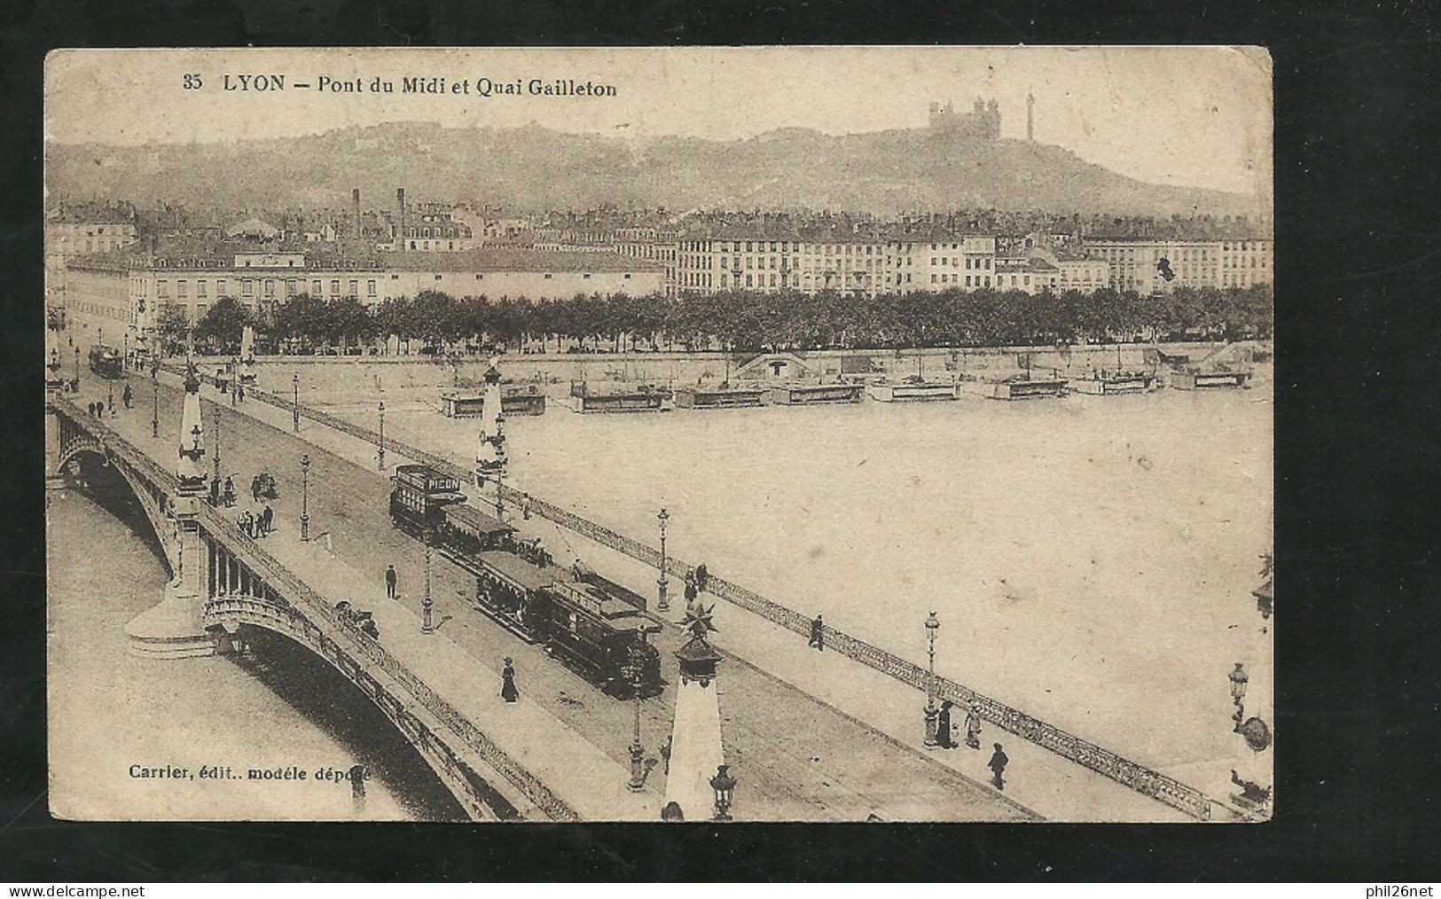
{"type": "MultiPolygon", "coordinates": [[[[935,611],[940,673],[1180,775],[1235,756],[1236,661],[1248,713],[1270,719],[1270,622],[1251,596],[1272,527],[1258,375],[1013,403],[552,402],[507,421],[507,448],[516,487],[651,545],[664,506],[676,556],[922,664],[935,611]]],[[[474,421],[396,399],[396,434],[473,455],[474,421]]]]}

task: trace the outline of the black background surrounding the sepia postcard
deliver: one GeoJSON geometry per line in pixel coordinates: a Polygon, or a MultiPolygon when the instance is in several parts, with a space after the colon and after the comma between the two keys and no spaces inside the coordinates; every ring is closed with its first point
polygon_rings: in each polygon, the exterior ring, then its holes
{"type": "MultiPolygon", "coordinates": [[[[1429,3],[10,1],[0,45],[0,879],[1435,880],[1429,3]],[[261,3],[245,3],[258,9],[261,3]],[[45,798],[40,69],[58,46],[1190,43],[1275,62],[1277,820],[1265,826],[71,824],[45,798]]],[[[1197,451],[1203,451],[1197,447],[1197,451]]]]}

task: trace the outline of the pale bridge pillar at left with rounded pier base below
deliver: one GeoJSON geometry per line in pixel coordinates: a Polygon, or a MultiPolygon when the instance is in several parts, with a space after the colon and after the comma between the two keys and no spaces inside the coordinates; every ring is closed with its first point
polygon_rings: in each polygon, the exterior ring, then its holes
{"type": "Polygon", "coordinates": [[[176,493],[170,497],[174,535],[170,543],[173,578],[156,608],[125,625],[130,651],[151,658],[213,656],[215,641],[205,630],[209,589],[209,546],[200,532],[200,503],[209,477],[205,471],[205,425],[200,421],[200,377],[186,366],[184,406],[180,413],[176,493]]]}

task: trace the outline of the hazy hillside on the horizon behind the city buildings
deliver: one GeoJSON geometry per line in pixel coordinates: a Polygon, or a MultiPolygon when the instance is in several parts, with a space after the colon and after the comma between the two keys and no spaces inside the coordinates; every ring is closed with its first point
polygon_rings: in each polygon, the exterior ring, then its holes
{"type": "Polygon", "coordinates": [[[128,199],[226,209],[480,200],[516,209],[808,207],[1114,212],[1170,216],[1261,212],[1249,197],[1147,184],[1049,144],[978,141],[929,130],[830,135],[801,128],[748,140],[623,140],[523,128],[393,122],[235,144],[52,144],[59,200],[128,199]]]}

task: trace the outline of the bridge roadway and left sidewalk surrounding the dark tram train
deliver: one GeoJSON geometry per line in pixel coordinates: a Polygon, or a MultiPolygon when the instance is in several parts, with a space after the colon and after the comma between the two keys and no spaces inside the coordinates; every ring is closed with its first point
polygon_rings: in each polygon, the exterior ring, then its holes
{"type": "MultiPolygon", "coordinates": [[[[164,375],[151,390],[150,377],[131,375],[134,408],[117,409],[105,424],[131,439],[156,460],[174,455],[173,431],[179,421],[180,392],[174,379],[164,375]],[[150,437],[153,398],[159,396],[161,431],[150,437]]],[[[115,385],[117,396],[121,385],[115,385]]],[[[664,790],[664,759],[660,752],[669,736],[674,693],[672,689],[641,703],[641,743],[644,746],[646,790],[637,797],[625,791],[634,705],[602,696],[594,686],[549,658],[542,647],[526,644],[471,608],[474,582],[440,558],[432,563],[432,598],[437,634],[419,634],[418,609],[424,592],[424,549],[416,540],[395,530],[386,514],[388,471],[378,470],[373,452],[359,441],[330,428],[303,421],[300,434],[284,409],[254,401],[232,408],[228,395],[203,389],[206,447],[218,448],[222,477],[231,475],[242,500],[235,509],[222,510],[233,517],[242,509],[256,510],[249,497],[249,478],[269,471],[278,483],[280,498],[271,504],[277,529],[259,540],[287,566],[295,565],[297,576],[313,578],[311,586],[331,599],[350,599],[376,614],[380,643],[401,640],[418,650],[435,647],[435,660],[418,660],[416,668],[434,671],[438,684],[448,684],[447,699],[497,743],[509,741],[510,720],[533,716],[536,728],[517,728],[523,741],[545,741],[546,748],[526,755],[525,746],[504,743],[532,774],[546,781],[546,766],[558,766],[558,777],[604,779],[594,790],[565,792],[581,817],[647,817],[648,804],[664,790]],[[220,403],[213,401],[219,399],[220,403]],[[216,434],[216,412],[219,432],[216,434]],[[297,540],[301,514],[300,458],[311,458],[305,509],[314,546],[297,540]],[[288,543],[288,546],[282,546],[288,543]],[[323,555],[316,555],[323,553],[323,555]],[[401,598],[385,599],[383,572],[393,563],[401,575],[401,598]],[[336,596],[334,594],[343,594],[336,596]],[[432,643],[425,643],[432,641],[432,643]],[[457,654],[458,650],[458,654],[457,654]],[[504,707],[499,700],[501,660],[516,661],[522,697],[535,703],[536,712],[504,707]],[[448,677],[454,680],[447,680],[448,677]],[[543,715],[542,715],[543,713],[543,715]],[[499,722],[501,730],[490,732],[499,722]],[[530,730],[535,730],[533,733],[530,730]],[[588,743],[581,751],[569,746],[588,743]],[[604,759],[604,762],[602,762],[604,759]],[[591,764],[591,762],[595,764],[591,764]],[[572,772],[572,774],[566,774],[572,772]],[[615,811],[604,811],[615,791],[625,795],[615,811]],[[572,795],[574,794],[574,795],[572,795]],[[625,802],[630,802],[628,805],[625,802]]],[[[105,399],[107,385],[86,377],[79,405],[105,399]]],[[[118,403],[117,403],[118,405],[118,403]]],[[[389,458],[389,464],[403,461],[389,458]]],[[[213,457],[206,457],[210,470],[213,457]]],[[[597,553],[597,568],[610,572],[608,558],[597,553]]],[[[633,582],[633,585],[637,585],[633,582]]],[[[638,586],[644,589],[644,582],[638,586]]],[[[682,643],[679,628],[657,637],[663,677],[676,681],[672,651],[682,643]]],[[[411,663],[408,657],[408,664],[411,663]]],[[[738,820],[1035,820],[1033,811],[976,778],[964,777],[860,720],[836,710],[803,690],[777,679],[744,658],[728,656],[722,668],[720,703],[728,762],[745,778],[738,791],[738,820]]],[[[441,689],[441,687],[437,687],[441,689]]],[[[517,703],[519,705],[519,703],[517,703]]],[[[559,791],[558,791],[559,792],[559,791]]],[[[656,811],[659,817],[659,811],[656,811]]]]}

